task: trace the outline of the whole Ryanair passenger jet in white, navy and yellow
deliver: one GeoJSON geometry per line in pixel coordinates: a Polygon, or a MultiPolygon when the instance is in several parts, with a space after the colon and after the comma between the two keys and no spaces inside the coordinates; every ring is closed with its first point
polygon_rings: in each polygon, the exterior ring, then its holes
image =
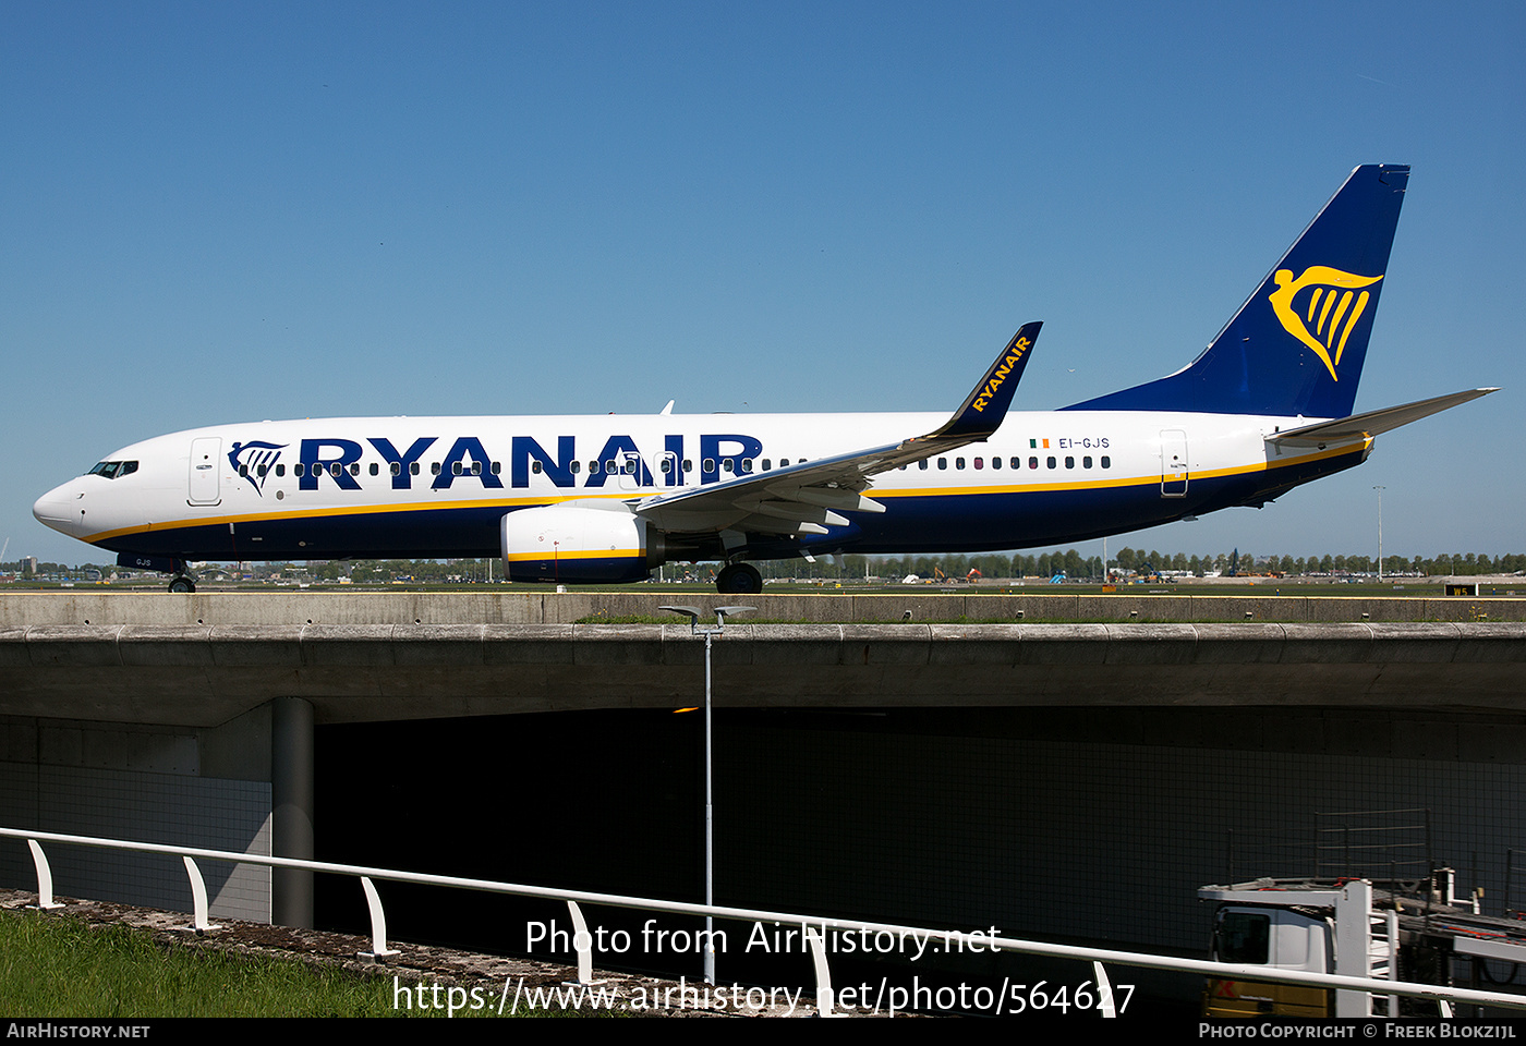
{"type": "Polygon", "coordinates": [[[171,592],[195,590],[192,561],[501,557],[510,581],[555,584],[725,561],[717,589],[755,593],[757,560],[1067,544],[1260,506],[1494,392],[1352,413],[1408,174],[1352,171],[1190,364],[1054,412],[1009,413],[1029,323],[948,418],[214,425],[124,447],[32,512],[171,592]]]}

